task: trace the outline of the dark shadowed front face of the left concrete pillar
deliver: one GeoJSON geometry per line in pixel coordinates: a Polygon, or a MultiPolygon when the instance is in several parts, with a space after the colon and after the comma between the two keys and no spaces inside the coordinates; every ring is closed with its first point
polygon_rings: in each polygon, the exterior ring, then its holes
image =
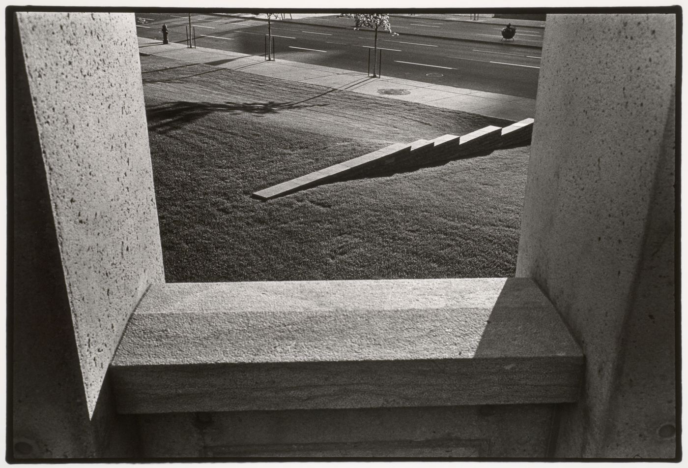
{"type": "Polygon", "coordinates": [[[13,26],[14,333],[12,439],[6,454],[8,460],[136,456],[136,426],[114,413],[107,379],[96,407],[89,411],[87,405],[42,156],[48,148],[41,147],[17,23],[13,26]]]}

